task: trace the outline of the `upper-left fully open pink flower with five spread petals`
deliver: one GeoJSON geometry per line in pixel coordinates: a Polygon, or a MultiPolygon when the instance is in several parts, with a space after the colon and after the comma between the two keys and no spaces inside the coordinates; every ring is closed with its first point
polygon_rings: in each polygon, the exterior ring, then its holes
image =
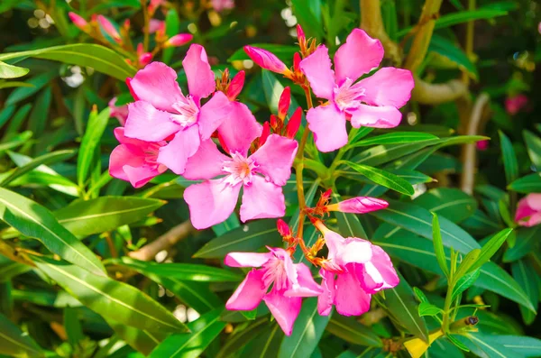
{"type": "Polygon", "coordinates": [[[175,70],[161,62],[152,62],[127,81],[137,100],[128,105],[125,135],[146,142],[170,140],[160,148],[158,162],[176,174],[184,172],[188,158],[232,109],[222,92],[216,92],[201,106],[201,99],[215,92],[215,76],[202,46],[191,45],[182,65],[188,78],[188,96],[180,91],[175,70]]]}

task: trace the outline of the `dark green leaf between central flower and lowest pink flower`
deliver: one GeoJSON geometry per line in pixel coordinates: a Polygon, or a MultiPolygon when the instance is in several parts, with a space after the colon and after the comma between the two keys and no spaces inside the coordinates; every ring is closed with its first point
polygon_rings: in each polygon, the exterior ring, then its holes
{"type": "Polygon", "coordinates": [[[216,237],[194,253],[194,257],[222,258],[229,252],[252,252],[265,245],[277,246],[280,243],[281,237],[276,231],[276,221],[257,220],[216,237]]]}

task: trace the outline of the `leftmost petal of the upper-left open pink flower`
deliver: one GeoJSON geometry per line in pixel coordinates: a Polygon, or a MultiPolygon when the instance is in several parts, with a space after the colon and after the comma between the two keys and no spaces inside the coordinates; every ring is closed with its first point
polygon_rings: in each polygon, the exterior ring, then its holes
{"type": "Polygon", "coordinates": [[[137,101],[128,105],[125,135],[147,142],[163,141],[182,127],[170,120],[170,114],[160,111],[149,102],[137,101]]]}

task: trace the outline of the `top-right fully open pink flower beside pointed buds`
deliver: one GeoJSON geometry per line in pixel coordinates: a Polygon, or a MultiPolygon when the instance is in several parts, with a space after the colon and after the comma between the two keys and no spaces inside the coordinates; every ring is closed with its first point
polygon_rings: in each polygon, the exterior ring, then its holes
{"type": "Polygon", "coordinates": [[[335,70],[325,45],[300,61],[314,94],[328,102],[307,113],[309,129],[319,151],[335,151],[347,143],[345,121],[353,127],[391,128],[399,125],[399,111],[411,96],[413,77],[407,69],[382,68],[369,78],[362,75],[378,68],[383,46],[366,32],[354,29],[335,53],[335,70]]]}

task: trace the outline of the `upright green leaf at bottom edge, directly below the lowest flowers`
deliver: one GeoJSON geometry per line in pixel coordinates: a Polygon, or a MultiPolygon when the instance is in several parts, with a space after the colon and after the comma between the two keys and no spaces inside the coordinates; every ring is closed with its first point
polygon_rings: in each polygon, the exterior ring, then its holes
{"type": "Polygon", "coordinates": [[[317,298],[305,299],[293,326],[293,333],[280,344],[278,357],[309,357],[316,350],[329,319],[329,316],[317,314],[317,298]]]}

